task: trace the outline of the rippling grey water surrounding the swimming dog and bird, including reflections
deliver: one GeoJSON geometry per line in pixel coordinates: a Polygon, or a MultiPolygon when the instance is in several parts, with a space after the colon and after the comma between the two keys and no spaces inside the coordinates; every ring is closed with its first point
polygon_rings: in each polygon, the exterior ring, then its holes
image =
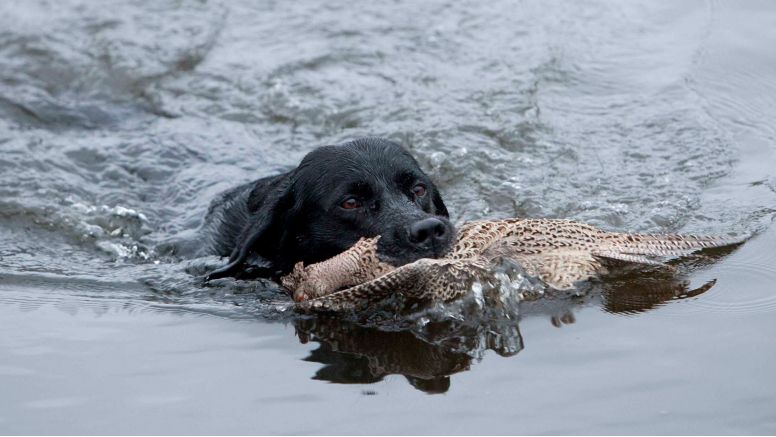
{"type": "Polygon", "coordinates": [[[765,1],[4,1],[0,433],[774,433],[774,47],[765,1]],[[200,284],[213,196],[364,135],[458,222],[754,237],[405,330],[200,284]]]}

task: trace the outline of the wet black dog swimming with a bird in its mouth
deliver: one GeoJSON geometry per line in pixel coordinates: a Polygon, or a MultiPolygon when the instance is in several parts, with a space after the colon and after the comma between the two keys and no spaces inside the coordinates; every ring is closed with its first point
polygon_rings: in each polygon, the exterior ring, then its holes
{"type": "Polygon", "coordinates": [[[364,138],[310,152],[299,166],[224,193],[205,218],[229,263],[208,279],[277,277],[380,235],[395,265],[438,258],[454,229],[439,191],[401,146],[364,138]]]}

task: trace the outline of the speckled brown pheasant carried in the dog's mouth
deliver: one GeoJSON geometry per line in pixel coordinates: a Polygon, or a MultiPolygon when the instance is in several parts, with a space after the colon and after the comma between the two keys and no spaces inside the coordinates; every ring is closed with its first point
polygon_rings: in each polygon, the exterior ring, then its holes
{"type": "Polygon", "coordinates": [[[343,311],[368,307],[394,293],[413,299],[450,301],[485,277],[499,258],[518,262],[528,275],[556,289],[606,272],[602,261],[661,264],[661,257],[736,243],[694,235],[606,232],[570,220],[506,219],[468,222],[441,259],[423,258],[394,267],[377,255],[379,237],[282,278],[302,311],[343,311]]]}

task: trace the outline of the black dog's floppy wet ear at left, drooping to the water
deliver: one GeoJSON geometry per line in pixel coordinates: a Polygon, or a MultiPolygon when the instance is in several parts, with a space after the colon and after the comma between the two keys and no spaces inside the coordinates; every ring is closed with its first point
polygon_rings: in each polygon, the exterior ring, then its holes
{"type": "Polygon", "coordinates": [[[294,171],[279,175],[268,187],[254,187],[247,202],[250,222],[237,237],[229,262],[207,275],[205,281],[234,276],[252,254],[254,256],[251,258],[257,260],[256,264],[262,264],[258,267],[267,273],[266,276],[274,273],[274,264],[254,252],[258,247],[279,247],[285,235],[285,219],[294,206],[291,189],[293,174],[294,171]]]}

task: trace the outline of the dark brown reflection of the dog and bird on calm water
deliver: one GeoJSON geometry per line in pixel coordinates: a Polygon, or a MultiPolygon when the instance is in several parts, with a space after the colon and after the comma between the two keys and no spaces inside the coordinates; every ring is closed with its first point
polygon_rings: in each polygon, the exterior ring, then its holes
{"type": "Polygon", "coordinates": [[[593,283],[582,293],[548,293],[535,301],[521,301],[514,314],[497,323],[482,318],[439,320],[403,330],[363,326],[333,316],[299,319],[297,335],[303,343],[320,347],[305,358],[324,364],[314,379],[341,384],[371,384],[387,375],[403,375],[418,390],[444,393],[451,378],[471,368],[472,361],[492,350],[514,356],[523,349],[519,320],[549,316],[560,327],[575,321],[582,306],[601,305],[610,313],[635,314],[674,299],[698,296],[714,282],[690,289],[689,281],[672,270],[625,272],[593,283]]]}

